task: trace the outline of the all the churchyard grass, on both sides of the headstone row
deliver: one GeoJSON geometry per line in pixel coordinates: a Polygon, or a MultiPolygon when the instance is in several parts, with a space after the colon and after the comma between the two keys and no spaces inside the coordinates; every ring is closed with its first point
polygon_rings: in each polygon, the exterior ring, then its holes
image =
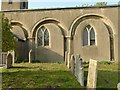
{"type": "MultiPolygon", "coordinates": [[[[88,63],[84,64],[85,85],[88,63]]],[[[118,64],[99,63],[97,88],[116,88],[118,64]]],[[[84,88],[63,63],[20,63],[2,69],[3,88],[84,88]]],[[[119,81],[120,82],[120,81],[119,81]]]]}

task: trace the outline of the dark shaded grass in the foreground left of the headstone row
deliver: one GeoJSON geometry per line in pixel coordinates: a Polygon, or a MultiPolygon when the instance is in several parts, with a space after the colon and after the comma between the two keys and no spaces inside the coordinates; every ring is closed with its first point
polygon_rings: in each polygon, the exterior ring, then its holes
{"type": "Polygon", "coordinates": [[[69,71],[3,72],[3,88],[81,88],[69,71]]]}

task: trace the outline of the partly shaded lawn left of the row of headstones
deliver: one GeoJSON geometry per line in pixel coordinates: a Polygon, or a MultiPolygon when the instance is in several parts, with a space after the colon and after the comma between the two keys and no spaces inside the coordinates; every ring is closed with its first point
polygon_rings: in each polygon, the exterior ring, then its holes
{"type": "Polygon", "coordinates": [[[74,75],[60,63],[21,63],[3,69],[3,88],[80,88],[74,75]]]}

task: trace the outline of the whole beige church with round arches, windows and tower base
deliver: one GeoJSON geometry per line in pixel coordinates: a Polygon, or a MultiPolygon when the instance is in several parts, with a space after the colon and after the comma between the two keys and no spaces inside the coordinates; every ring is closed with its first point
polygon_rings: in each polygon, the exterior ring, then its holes
{"type": "Polygon", "coordinates": [[[120,59],[119,5],[28,9],[28,0],[2,0],[17,38],[17,59],[40,62],[120,59]]]}

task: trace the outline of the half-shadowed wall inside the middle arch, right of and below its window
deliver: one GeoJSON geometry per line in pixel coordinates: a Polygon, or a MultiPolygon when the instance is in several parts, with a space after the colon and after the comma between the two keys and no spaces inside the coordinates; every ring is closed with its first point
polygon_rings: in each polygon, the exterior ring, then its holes
{"type": "Polygon", "coordinates": [[[49,31],[49,46],[38,46],[36,42],[35,58],[41,62],[63,62],[64,40],[61,29],[55,24],[44,24],[49,31]]]}

